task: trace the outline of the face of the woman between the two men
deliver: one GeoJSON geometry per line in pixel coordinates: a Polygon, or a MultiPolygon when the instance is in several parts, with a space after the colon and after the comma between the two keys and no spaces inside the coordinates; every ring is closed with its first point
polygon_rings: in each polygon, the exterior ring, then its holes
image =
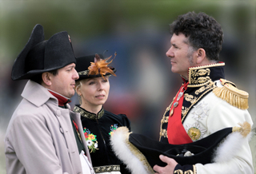
{"type": "Polygon", "coordinates": [[[109,77],[96,77],[82,80],[82,86],[78,90],[81,96],[82,105],[97,107],[103,105],[110,92],[109,77]]]}

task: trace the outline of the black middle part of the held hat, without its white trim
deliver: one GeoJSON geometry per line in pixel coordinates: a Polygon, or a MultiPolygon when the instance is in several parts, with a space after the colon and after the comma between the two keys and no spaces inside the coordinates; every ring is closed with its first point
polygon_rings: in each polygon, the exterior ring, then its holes
{"type": "Polygon", "coordinates": [[[222,129],[190,144],[166,144],[137,133],[131,133],[129,141],[142,152],[151,168],[155,164],[166,166],[166,163],[159,159],[161,154],[173,158],[181,165],[208,164],[213,162],[214,150],[217,145],[231,132],[232,128],[222,129]],[[186,152],[191,152],[194,155],[186,156],[186,152]]]}

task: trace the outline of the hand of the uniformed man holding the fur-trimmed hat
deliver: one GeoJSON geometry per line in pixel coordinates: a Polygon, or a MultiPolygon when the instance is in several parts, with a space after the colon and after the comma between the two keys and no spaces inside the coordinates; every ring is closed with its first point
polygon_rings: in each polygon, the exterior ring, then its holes
{"type": "Polygon", "coordinates": [[[165,162],[167,165],[166,167],[160,167],[158,165],[154,165],[154,171],[159,174],[173,174],[174,173],[174,168],[176,167],[176,165],[178,164],[176,162],[176,160],[169,158],[167,156],[163,156],[160,155],[159,156],[160,160],[162,160],[162,162],[165,162]]]}

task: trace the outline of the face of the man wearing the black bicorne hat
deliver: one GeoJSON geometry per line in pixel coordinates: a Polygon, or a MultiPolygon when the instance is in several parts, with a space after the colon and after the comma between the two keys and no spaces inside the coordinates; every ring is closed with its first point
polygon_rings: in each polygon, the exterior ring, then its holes
{"type": "Polygon", "coordinates": [[[79,78],[78,72],[74,69],[75,64],[66,65],[62,69],[58,69],[57,75],[50,75],[50,89],[65,97],[74,96],[75,80],[79,78]]]}

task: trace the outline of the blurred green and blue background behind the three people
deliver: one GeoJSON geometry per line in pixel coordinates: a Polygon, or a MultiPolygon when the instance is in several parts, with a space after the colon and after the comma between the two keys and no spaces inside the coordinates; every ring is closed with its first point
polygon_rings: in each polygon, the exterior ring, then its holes
{"type": "MultiPolygon", "coordinates": [[[[111,65],[117,77],[110,77],[104,108],[125,113],[133,132],[158,140],[162,114],[182,82],[166,57],[169,24],[193,10],[222,25],[220,61],[226,62],[226,79],[250,93],[249,112],[256,123],[255,1],[0,1],[0,174],[6,173],[6,127],[26,84],[10,79],[11,67],[37,23],[46,39],[66,30],[77,57],[105,50],[108,57],[116,51],[111,65]]],[[[75,104],[77,96],[72,97],[75,104]]],[[[254,168],[255,139],[250,141],[254,168]]]]}

